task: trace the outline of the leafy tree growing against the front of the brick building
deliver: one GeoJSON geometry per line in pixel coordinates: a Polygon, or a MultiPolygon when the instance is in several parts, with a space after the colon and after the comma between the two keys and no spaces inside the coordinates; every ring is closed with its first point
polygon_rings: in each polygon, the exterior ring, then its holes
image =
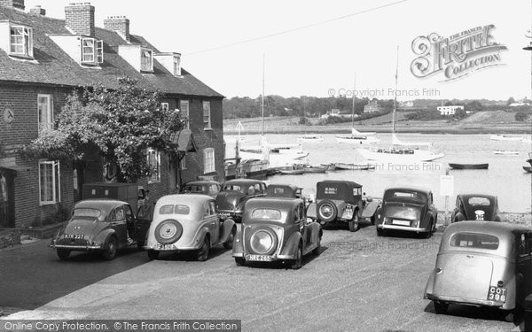
{"type": "Polygon", "coordinates": [[[79,160],[87,148],[117,168],[119,182],[135,182],[153,172],[146,150],[172,155],[177,149],[171,135],[183,128],[179,113],[160,108],[160,93],[119,79],[118,89],[85,89],[66,100],[56,129],[44,130],[23,148],[27,155],[79,160]]]}

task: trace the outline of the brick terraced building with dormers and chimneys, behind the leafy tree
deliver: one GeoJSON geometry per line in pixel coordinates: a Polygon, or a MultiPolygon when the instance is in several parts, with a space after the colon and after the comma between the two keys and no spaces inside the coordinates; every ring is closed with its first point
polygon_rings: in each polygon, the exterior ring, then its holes
{"type": "Polygon", "coordinates": [[[88,153],[82,163],[25,158],[20,147],[53,126],[76,88],[118,86],[129,76],[163,93],[161,107],[186,119],[176,133],[176,160],[157,151],[146,158],[157,172],[139,185],[150,199],[174,193],[198,177],[223,179],[223,96],[181,67],[181,55],[161,52],[129,34],[129,19],[110,17],[95,27],[94,7],[69,4],[66,19],[24,0],[0,0],[0,228],[40,225],[60,218],[81,198],[83,183],[113,181],[113,166],[88,153]]]}

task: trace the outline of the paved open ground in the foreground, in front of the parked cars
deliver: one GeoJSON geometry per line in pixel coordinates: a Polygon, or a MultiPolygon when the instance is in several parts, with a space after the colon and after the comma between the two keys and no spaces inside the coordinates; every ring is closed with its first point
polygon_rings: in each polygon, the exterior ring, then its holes
{"type": "MultiPolygon", "coordinates": [[[[239,319],[246,331],[519,330],[497,311],[455,305],[449,314],[434,313],[423,290],[440,240],[439,233],[428,240],[377,237],[371,226],[356,233],[328,229],[321,255],[307,257],[297,271],[237,267],[231,252],[222,248],[207,262],[164,256],[148,263],[142,252],[124,253],[113,262],[80,258],[64,263],[44,251],[41,257],[27,258],[27,274],[15,278],[13,273],[9,283],[27,284],[28,274],[37,274],[31,277],[37,282],[51,269],[65,268],[71,272],[62,277],[57,273],[58,282],[78,282],[71,288],[78,290],[64,297],[59,296],[69,291],[58,292],[59,298],[50,303],[8,318],[239,319]],[[33,266],[35,259],[43,261],[33,266]],[[102,280],[103,274],[89,273],[101,269],[113,275],[102,280]],[[74,281],[79,278],[87,282],[74,281]],[[79,289],[83,283],[87,286],[79,289]]],[[[4,259],[2,252],[3,266],[4,259]]],[[[31,302],[33,296],[23,297],[31,302]]]]}

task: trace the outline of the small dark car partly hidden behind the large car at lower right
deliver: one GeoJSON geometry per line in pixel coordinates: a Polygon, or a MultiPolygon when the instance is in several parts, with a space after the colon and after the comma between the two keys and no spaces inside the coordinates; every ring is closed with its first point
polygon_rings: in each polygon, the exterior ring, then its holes
{"type": "Polygon", "coordinates": [[[462,220],[500,221],[497,196],[484,194],[460,194],[450,217],[451,222],[462,220]]]}

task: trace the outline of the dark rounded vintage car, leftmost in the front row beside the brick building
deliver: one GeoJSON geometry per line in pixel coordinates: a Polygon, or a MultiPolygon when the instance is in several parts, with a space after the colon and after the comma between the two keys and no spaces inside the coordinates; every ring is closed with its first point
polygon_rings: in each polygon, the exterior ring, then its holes
{"type": "Polygon", "coordinates": [[[145,240],[145,224],[137,225],[131,206],[115,199],[86,199],[77,202],[72,217],[51,239],[59,259],[71,251],[99,251],[104,259],[114,259],[116,251],[145,240]]]}

